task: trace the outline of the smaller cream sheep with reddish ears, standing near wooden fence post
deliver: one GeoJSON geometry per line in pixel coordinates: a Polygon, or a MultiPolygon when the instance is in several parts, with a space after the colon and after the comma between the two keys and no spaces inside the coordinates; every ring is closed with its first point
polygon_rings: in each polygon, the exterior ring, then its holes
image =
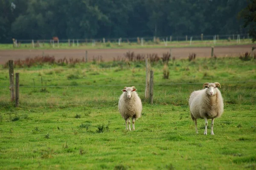
{"type": "Polygon", "coordinates": [[[132,129],[135,130],[135,119],[140,118],[142,112],[142,103],[138,96],[137,89],[134,86],[124,87],[122,95],[119,98],[118,110],[123,119],[125,119],[125,127],[131,130],[130,118],[132,118],[132,129]]]}

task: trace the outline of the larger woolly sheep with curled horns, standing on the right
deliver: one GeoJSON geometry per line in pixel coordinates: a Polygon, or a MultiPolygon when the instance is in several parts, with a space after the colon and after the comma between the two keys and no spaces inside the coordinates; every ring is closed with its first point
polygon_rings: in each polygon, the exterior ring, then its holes
{"type": "Polygon", "coordinates": [[[218,88],[221,88],[221,84],[205,83],[203,85],[205,89],[197,90],[191,93],[189,97],[189,109],[192,120],[195,122],[195,133],[197,130],[197,119],[201,118],[205,120],[204,135],[207,135],[207,119],[212,119],[211,134],[213,133],[214,119],[221,117],[224,112],[224,104],[221,96],[221,92],[218,88]]]}

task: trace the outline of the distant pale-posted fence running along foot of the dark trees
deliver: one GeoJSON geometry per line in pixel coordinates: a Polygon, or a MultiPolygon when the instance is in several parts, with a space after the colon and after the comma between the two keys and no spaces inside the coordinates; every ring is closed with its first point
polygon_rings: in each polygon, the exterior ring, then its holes
{"type": "Polygon", "coordinates": [[[212,40],[213,44],[216,44],[218,40],[236,40],[237,43],[241,43],[240,39],[250,39],[249,34],[232,34],[232,35],[184,35],[184,36],[161,36],[161,37],[119,37],[119,38],[70,38],[70,39],[32,39],[32,40],[19,40],[13,39],[13,47],[17,48],[21,46],[21,43],[31,43],[32,48],[44,46],[49,44],[53,48],[59,47],[60,43],[67,43],[68,46],[81,46],[81,43],[87,43],[90,46],[97,46],[99,44],[105,44],[110,46],[110,43],[117,43],[119,46],[122,43],[138,43],[141,46],[153,45],[158,43],[164,43],[165,46],[173,41],[188,41],[192,45],[192,41],[198,40],[212,40]]]}

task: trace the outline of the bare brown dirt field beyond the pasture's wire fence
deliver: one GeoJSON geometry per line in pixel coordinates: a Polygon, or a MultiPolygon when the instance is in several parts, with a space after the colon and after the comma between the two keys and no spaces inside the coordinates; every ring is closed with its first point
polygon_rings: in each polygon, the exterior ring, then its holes
{"type": "MultiPolygon", "coordinates": [[[[236,45],[236,46],[216,46],[214,54],[217,57],[236,57],[243,55],[245,52],[251,52],[253,44],[236,45]]],[[[6,63],[8,60],[25,59],[27,57],[35,57],[50,55],[54,56],[56,60],[63,58],[79,58],[85,57],[86,49],[14,49],[14,50],[0,50],[0,64],[6,63]]],[[[128,51],[135,54],[152,54],[157,53],[162,56],[163,53],[169,52],[169,48],[145,48],[145,49],[88,49],[88,61],[92,61],[93,57],[102,56],[103,61],[113,61],[113,58],[118,56],[124,58],[124,54],[128,51]]],[[[188,58],[190,53],[195,53],[196,57],[210,57],[210,47],[186,47],[186,48],[172,48],[172,56],[178,58],[188,58]]]]}

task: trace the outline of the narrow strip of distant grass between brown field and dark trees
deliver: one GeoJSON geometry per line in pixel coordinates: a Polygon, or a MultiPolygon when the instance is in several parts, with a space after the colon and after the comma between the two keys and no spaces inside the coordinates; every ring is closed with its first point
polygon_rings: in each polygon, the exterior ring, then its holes
{"type": "MultiPolygon", "coordinates": [[[[122,41],[119,45],[117,42],[106,42],[105,44],[102,42],[96,42],[95,46],[92,43],[82,42],[77,44],[76,41],[73,44],[71,42],[70,46],[67,42],[54,43],[54,46],[48,41],[34,43],[34,49],[131,49],[131,48],[170,48],[170,47],[209,47],[209,46],[232,46],[232,45],[245,45],[245,44],[253,44],[250,39],[241,39],[240,43],[237,40],[217,40],[216,43],[213,43],[213,40],[193,40],[190,44],[190,41],[168,41],[167,45],[163,41],[154,43],[153,41],[145,41],[143,46],[141,43],[128,43],[126,40],[122,41]]],[[[0,50],[6,49],[33,49],[32,43],[29,42],[20,42],[17,43],[18,47],[13,47],[13,44],[0,44],[0,50]]]]}

